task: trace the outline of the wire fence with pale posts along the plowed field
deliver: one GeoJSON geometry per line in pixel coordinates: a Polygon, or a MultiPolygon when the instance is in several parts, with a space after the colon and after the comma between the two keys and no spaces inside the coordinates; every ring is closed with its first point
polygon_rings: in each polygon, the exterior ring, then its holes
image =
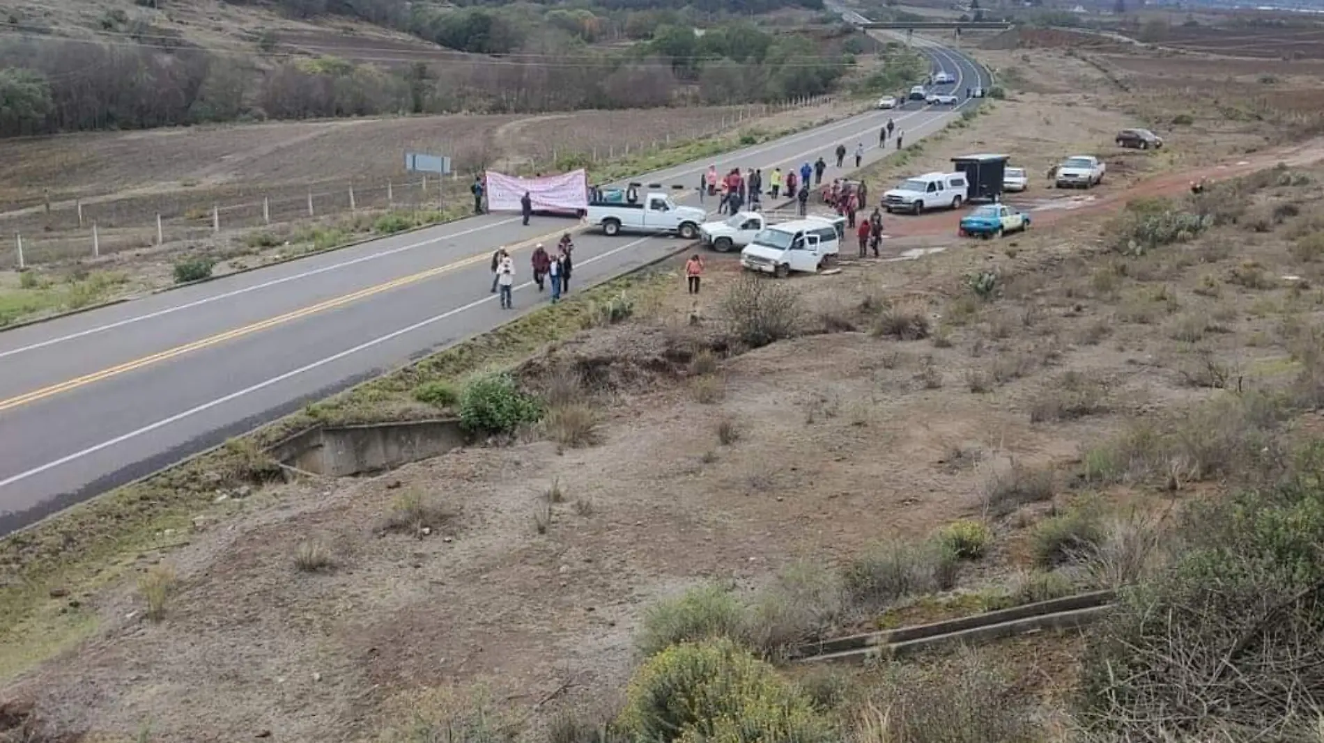
{"type": "MultiPolygon", "coordinates": [[[[730,132],[747,122],[792,108],[835,103],[833,97],[812,97],[784,104],[736,107],[708,126],[675,139],[662,135],[638,144],[596,144],[592,132],[556,144],[535,143],[516,172],[555,172],[567,164],[596,164],[626,157],[647,157],[682,141],[730,132]]],[[[576,165],[577,167],[577,165],[576,165]]],[[[150,251],[166,245],[212,250],[245,230],[315,222],[384,210],[450,209],[469,204],[471,171],[455,167],[450,175],[402,173],[399,178],[361,177],[290,185],[228,184],[205,193],[188,189],[126,197],[45,202],[0,214],[0,268],[29,268],[61,262],[85,262],[128,251],[150,251]],[[5,247],[4,243],[8,243],[5,247]]]]}

